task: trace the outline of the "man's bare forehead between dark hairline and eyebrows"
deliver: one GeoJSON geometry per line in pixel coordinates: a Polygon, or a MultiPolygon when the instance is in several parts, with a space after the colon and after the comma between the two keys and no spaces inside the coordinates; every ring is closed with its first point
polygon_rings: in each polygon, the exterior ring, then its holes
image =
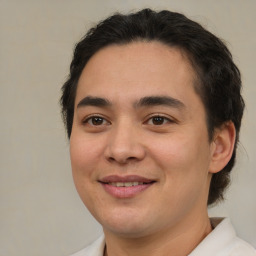
{"type": "Polygon", "coordinates": [[[195,94],[196,77],[190,61],[178,48],[156,41],[110,45],[86,64],[76,102],[94,94],[110,100],[157,94],[182,97],[195,94]]]}

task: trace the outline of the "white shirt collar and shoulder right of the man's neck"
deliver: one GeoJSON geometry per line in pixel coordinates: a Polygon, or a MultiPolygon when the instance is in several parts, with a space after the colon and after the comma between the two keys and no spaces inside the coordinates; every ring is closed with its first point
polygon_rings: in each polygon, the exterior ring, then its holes
{"type": "Polygon", "coordinates": [[[213,231],[189,256],[256,256],[256,250],[240,239],[228,218],[211,219],[213,231]]]}

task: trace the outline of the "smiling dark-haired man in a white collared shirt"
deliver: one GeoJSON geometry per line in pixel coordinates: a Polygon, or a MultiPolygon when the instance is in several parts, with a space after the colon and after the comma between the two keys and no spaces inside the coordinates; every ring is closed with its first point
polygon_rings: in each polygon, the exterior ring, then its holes
{"type": "Polygon", "coordinates": [[[77,44],[62,89],[74,182],[104,231],[74,255],[256,255],[207,214],[244,109],[221,40],[179,13],[116,14],[77,44]]]}

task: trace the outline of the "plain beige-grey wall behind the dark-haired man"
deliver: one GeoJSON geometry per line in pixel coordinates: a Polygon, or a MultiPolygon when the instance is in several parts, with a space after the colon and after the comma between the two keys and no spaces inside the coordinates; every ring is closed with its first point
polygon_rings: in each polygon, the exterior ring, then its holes
{"type": "Polygon", "coordinates": [[[0,0],[0,256],[69,255],[100,233],[73,185],[58,104],[75,43],[115,11],[182,12],[225,39],[246,100],[229,216],[256,247],[255,0],[0,0]]]}

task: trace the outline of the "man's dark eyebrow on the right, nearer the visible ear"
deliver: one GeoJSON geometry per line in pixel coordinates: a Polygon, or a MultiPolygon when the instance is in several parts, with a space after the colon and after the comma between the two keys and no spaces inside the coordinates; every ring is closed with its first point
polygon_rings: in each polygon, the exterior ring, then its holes
{"type": "Polygon", "coordinates": [[[179,101],[178,99],[169,97],[169,96],[149,96],[143,97],[138,102],[135,103],[135,107],[149,107],[149,106],[169,106],[178,109],[185,108],[183,102],[179,101]]]}

